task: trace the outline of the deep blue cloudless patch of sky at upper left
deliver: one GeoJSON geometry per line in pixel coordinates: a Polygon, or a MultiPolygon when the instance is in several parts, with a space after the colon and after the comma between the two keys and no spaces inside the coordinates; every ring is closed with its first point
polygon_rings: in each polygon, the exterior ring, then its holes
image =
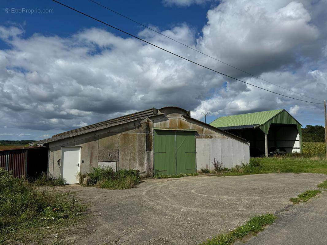
{"type": "MultiPolygon", "coordinates": [[[[67,1],[60,0],[59,2],[68,6],[74,7],[77,10],[96,16],[98,19],[108,22],[112,25],[120,27],[132,34],[137,34],[143,29],[142,26],[133,23],[108,9],[102,8],[88,0],[67,1]]],[[[170,27],[179,24],[187,23],[198,32],[206,23],[206,13],[210,8],[211,3],[207,2],[201,5],[191,5],[189,7],[167,6],[164,7],[161,1],[96,1],[99,4],[108,6],[113,10],[120,12],[131,19],[138,20],[144,25],[154,25],[160,29],[169,29],[170,27]],[[122,4],[123,3],[123,4],[122,4]]],[[[10,9],[9,13],[3,13],[0,16],[2,24],[14,22],[24,26],[25,36],[28,37],[34,33],[42,33],[43,35],[59,35],[61,37],[70,36],[83,28],[99,27],[107,28],[101,23],[90,20],[72,10],[67,9],[59,4],[47,1],[1,1],[0,8],[2,11],[6,8],[10,9]],[[53,13],[12,13],[11,9],[53,9],[53,13]]],[[[16,10],[14,10],[16,11],[16,10]]],[[[122,35],[120,32],[108,29],[112,33],[122,35]]],[[[124,37],[124,35],[123,35],[124,37]]],[[[126,35],[125,35],[126,37],[126,35]]],[[[1,43],[1,48],[7,47],[4,42],[1,43]]]]}

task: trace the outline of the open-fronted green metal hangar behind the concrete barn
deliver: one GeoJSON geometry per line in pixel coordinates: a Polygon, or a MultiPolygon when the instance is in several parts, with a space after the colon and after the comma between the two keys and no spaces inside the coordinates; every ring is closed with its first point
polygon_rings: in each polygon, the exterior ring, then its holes
{"type": "Polygon", "coordinates": [[[301,152],[302,125],[284,109],[219,117],[210,125],[250,141],[251,156],[268,156],[268,147],[301,152]]]}

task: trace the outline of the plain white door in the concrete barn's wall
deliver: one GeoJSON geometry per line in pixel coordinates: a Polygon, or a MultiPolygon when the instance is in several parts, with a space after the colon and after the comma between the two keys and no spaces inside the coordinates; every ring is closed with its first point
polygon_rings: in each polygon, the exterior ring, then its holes
{"type": "Polygon", "coordinates": [[[61,147],[61,176],[67,184],[76,184],[80,165],[80,147],[61,147]]]}

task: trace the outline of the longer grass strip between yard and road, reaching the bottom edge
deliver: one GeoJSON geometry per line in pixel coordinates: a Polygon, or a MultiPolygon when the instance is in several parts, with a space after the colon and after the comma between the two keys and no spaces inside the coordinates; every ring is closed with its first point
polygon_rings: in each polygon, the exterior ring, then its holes
{"type": "Polygon", "coordinates": [[[254,216],[245,225],[239,226],[236,229],[219,234],[205,242],[202,245],[227,245],[232,244],[237,239],[241,239],[248,234],[255,234],[264,230],[264,226],[275,222],[277,217],[273,214],[265,214],[260,216],[254,216]]]}

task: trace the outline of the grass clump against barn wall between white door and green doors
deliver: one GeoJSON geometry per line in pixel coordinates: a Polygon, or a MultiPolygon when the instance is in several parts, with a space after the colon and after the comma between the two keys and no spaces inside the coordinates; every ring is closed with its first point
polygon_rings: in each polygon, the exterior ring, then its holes
{"type": "MultiPolygon", "coordinates": [[[[84,176],[83,176],[84,177],[84,176]]],[[[137,170],[118,170],[114,172],[111,167],[98,167],[86,175],[91,185],[108,189],[129,189],[140,183],[140,176],[137,170]]],[[[83,183],[80,179],[79,183],[83,183]]]]}

